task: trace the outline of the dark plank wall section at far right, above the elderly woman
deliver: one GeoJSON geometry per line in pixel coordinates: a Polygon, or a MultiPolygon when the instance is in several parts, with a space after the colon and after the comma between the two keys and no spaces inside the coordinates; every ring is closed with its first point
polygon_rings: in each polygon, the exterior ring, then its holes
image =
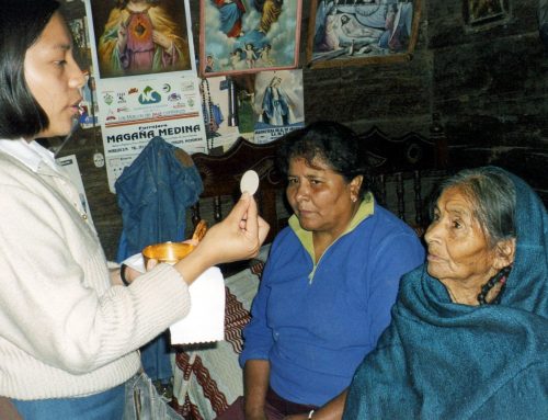
{"type": "Polygon", "coordinates": [[[500,164],[548,202],[548,54],[536,0],[512,1],[507,25],[465,33],[460,1],[429,1],[433,109],[455,163],[500,164]]]}

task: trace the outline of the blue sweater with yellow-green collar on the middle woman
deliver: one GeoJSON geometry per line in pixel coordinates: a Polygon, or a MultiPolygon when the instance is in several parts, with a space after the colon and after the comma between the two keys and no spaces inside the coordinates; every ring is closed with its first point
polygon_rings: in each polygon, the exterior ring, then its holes
{"type": "Polygon", "coordinates": [[[424,250],[411,228],[376,204],[373,212],[370,201],[316,265],[311,254],[311,232],[294,216],[272,246],[240,364],[269,360],[279,396],[321,406],[374,349],[400,276],[424,261],[424,250]]]}

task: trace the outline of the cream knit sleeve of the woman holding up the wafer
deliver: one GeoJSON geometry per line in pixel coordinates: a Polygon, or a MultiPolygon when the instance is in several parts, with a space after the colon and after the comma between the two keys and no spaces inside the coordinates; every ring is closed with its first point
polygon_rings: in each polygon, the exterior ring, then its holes
{"type": "MultiPolygon", "coordinates": [[[[33,185],[37,188],[37,185],[33,185]]],[[[95,370],[151,340],[190,308],[186,283],[160,264],[111,286],[94,232],[45,189],[0,186],[0,334],[72,373],[95,370]]]]}

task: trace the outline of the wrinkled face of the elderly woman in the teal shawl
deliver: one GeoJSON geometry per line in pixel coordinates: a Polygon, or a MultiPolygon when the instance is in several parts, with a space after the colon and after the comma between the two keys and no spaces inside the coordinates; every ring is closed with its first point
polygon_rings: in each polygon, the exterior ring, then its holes
{"type": "Polygon", "coordinates": [[[424,238],[429,274],[445,285],[477,288],[502,268],[475,216],[473,203],[459,188],[449,188],[438,198],[424,238]]]}

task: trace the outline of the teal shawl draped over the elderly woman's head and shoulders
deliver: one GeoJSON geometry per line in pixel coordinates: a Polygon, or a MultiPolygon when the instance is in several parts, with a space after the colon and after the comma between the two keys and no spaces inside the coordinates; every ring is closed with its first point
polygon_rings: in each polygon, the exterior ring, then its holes
{"type": "Polygon", "coordinates": [[[501,303],[454,304],[425,266],[408,273],[344,419],[548,419],[548,216],[504,173],[516,189],[517,240],[501,303]]]}

